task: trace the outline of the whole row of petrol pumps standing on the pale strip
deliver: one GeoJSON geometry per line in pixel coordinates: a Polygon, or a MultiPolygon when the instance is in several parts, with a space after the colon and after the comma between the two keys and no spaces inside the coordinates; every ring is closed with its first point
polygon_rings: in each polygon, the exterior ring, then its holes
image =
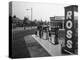
{"type": "Polygon", "coordinates": [[[44,40],[49,40],[52,44],[58,44],[58,27],[49,28],[47,25],[37,27],[36,35],[44,40]]]}

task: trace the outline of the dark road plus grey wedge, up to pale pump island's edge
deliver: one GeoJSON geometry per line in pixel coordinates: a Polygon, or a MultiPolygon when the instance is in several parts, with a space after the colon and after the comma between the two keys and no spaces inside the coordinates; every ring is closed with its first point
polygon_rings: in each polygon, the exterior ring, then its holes
{"type": "Polygon", "coordinates": [[[31,35],[36,29],[12,32],[12,58],[30,58],[50,56],[31,35]],[[26,41],[24,37],[26,36],[26,41]],[[27,43],[26,43],[27,42],[27,43]]]}

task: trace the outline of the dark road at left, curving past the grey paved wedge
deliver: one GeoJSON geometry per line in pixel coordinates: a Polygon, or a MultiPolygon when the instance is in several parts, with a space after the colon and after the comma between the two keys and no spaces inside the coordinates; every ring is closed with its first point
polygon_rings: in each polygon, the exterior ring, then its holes
{"type": "Polygon", "coordinates": [[[35,33],[33,30],[21,30],[12,32],[12,58],[26,58],[30,57],[28,48],[24,41],[24,36],[35,33]]]}

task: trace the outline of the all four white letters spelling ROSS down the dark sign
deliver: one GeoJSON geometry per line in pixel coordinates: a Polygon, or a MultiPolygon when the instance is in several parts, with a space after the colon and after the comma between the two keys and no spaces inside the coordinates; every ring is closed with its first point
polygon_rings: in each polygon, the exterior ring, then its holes
{"type": "MultiPolygon", "coordinates": [[[[72,21],[70,20],[70,19],[72,19],[72,11],[68,11],[67,12],[67,15],[66,15],[66,19],[68,19],[67,21],[66,21],[66,28],[68,29],[67,31],[66,31],[66,37],[67,38],[69,38],[69,39],[71,39],[72,38],[72,31],[70,30],[71,28],[72,28],[72,21]]],[[[68,48],[72,48],[72,41],[71,40],[67,40],[67,44],[66,44],[66,46],[68,47],[68,48]]]]}

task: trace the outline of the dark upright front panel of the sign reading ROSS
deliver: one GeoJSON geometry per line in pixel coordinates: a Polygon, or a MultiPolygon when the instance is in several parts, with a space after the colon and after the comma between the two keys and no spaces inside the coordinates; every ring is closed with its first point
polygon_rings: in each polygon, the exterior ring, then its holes
{"type": "Polygon", "coordinates": [[[65,7],[65,48],[70,54],[75,52],[74,40],[74,6],[65,7]]]}

